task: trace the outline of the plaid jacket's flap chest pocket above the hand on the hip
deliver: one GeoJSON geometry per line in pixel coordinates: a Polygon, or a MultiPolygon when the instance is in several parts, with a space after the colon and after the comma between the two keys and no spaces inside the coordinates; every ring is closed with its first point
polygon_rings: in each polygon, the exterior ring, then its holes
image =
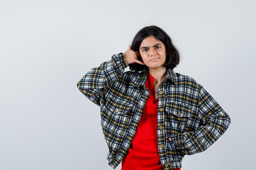
{"type": "Polygon", "coordinates": [[[169,101],[166,102],[165,110],[166,130],[169,135],[189,131],[191,124],[191,106],[169,101]]]}

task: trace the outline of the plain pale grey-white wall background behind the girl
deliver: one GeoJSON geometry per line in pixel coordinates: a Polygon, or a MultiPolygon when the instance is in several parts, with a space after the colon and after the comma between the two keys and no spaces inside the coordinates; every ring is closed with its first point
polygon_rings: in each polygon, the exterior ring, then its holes
{"type": "Polygon", "coordinates": [[[149,25],[179,49],[174,71],[231,117],[182,170],[254,169],[255,9],[254,0],[0,0],[0,170],[111,170],[99,106],[76,84],[149,25]]]}

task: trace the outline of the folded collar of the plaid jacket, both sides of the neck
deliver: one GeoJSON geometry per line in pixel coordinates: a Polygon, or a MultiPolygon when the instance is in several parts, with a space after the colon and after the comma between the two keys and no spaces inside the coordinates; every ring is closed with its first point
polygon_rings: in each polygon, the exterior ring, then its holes
{"type": "MultiPolygon", "coordinates": [[[[144,71],[137,72],[137,74],[135,74],[135,81],[133,82],[132,87],[144,86],[146,83],[147,75],[148,71],[146,69],[144,71]]],[[[177,76],[173,69],[167,69],[166,78],[171,80],[171,82],[173,82],[175,85],[177,85],[177,76]]]]}

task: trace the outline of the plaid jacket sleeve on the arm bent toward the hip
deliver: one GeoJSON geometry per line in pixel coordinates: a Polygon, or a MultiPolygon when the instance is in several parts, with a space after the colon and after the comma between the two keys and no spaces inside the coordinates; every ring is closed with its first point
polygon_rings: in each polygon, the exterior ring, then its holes
{"type": "Polygon", "coordinates": [[[231,122],[229,115],[201,85],[200,87],[198,115],[202,125],[196,131],[171,137],[175,147],[187,155],[209,148],[227,130],[231,122]]]}

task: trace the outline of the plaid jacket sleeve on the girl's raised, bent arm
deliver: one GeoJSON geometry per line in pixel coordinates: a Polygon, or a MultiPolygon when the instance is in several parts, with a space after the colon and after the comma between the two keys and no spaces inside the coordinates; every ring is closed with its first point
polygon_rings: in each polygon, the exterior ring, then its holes
{"type": "Polygon", "coordinates": [[[103,62],[99,67],[92,68],[77,83],[79,91],[88,99],[100,106],[100,95],[103,88],[115,82],[128,66],[121,54],[112,55],[111,60],[103,62]]]}

